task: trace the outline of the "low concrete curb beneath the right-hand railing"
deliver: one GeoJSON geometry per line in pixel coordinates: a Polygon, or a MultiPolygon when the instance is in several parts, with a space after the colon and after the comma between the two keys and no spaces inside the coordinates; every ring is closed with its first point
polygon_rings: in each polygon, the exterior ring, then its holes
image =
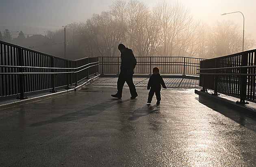
{"type": "Polygon", "coordinates": [[[220,96],[213,96],[212,94],[209,94],[208,92],[203,92],[200,90],[195,90],[195,94],[205,96],[207,98],[210,98],[211,100],[216,101],[217,103],[227,105],[228,107],[231,107],[232,109],[236,109],[243,113],[247,113],[249,115],[256,116],[256,111],[254,109],[247,107],[247,104],[237,104],[236,101],[231,101],[226,98],[221,98],[220,96]]]}

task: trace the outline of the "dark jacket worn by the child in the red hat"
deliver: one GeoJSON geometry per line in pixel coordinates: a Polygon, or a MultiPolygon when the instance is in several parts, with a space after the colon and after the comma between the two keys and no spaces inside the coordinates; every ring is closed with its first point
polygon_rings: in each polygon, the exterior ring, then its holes
{"type": "Polygon", "coordinates": [[[150,76],[150,79],[148,81],[148,90],[150,88],[153,88],[155,90],[161,90],[161,85],[163,86],[163,88],[166,89],[163,78],[159,73],[150,76]]]}

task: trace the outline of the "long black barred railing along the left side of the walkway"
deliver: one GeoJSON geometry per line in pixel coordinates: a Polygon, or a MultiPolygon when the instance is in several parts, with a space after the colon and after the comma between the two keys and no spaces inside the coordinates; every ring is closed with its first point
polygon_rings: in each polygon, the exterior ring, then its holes
{"type": "Polygon", "coordinates": [[[0,97],[77,83],[98,72],[98,57],[67,60],[0,41],[0,97]]]}

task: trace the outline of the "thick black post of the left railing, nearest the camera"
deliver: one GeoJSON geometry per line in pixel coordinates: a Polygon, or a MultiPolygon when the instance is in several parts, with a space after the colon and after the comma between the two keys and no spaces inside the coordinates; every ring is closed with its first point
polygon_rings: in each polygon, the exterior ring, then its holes
{"type": "MultiPolygon", "coordinates": [[[[23,56],[22,56],[22,48],[18,47],[18,66],[23,66],[23,56]]],[[[20,84],[20,97],[17,97],[17,98],[21,98],[21,99],[24,99],[24,98],[27,98],[27,97],[24,97],[24,75],[22,74],[23,73],[23,68],[19,68],[19,84],[20,84]]]]}

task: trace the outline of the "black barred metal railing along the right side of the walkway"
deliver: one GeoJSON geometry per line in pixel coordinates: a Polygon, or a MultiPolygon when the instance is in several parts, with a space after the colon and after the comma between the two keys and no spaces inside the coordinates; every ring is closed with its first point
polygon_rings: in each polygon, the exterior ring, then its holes
{"type": "Polygon", "coordinates": [[[256,49],[200,62],[199,86],[256,102],[256,49]]]}

